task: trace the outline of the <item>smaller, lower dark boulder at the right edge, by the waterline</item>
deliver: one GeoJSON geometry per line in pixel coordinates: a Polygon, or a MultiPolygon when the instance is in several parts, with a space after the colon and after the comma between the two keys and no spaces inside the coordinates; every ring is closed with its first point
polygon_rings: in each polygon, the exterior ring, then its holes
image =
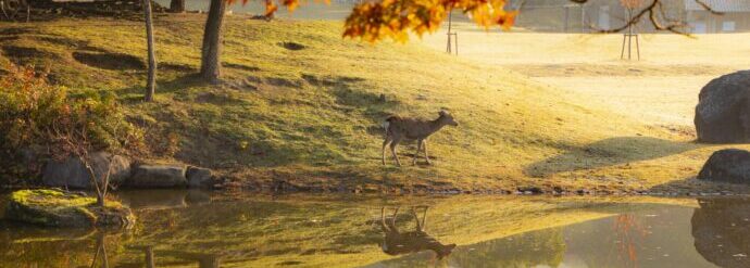
{"type": "Polygon", "coordinates": [[[750,183],[750,152],[739,149],[714,152],[698,174],[698,179],[750,183]]]}

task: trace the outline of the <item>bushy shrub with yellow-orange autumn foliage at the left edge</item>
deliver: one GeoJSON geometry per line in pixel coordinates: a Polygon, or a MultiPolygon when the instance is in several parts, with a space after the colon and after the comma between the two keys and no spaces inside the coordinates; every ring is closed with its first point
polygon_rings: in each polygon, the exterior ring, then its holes
{"type": "MultiPolygon", "coordinates": [[[[68,94],[65,87],[50,85],[45,74],[32,67],[10,66],[0,78],[0,156],[18,158],[32,152],[37,161],[63,158],[72,153],[71,140],[89,151],[138,149],[139,129],[124,119],[112,94],[85,91],[68,94]]],[[[38,174],[39,165],[11,161],[0,163],[0,183],[17,183],[17,176],[38,174]],[[10,179],[9,178],[13,178],[10,179]]]]}

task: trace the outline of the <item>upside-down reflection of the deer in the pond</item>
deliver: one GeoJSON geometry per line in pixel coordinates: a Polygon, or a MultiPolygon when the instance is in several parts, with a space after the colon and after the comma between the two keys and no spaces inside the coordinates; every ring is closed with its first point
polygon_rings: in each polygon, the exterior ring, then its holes
{"type": "Polygon", "coordinates": [[[427,224],[427,209],[424,207],[422,221],[416,214],[416,207],[412,207],[410,214],[416,221],[416,230],[410,232],[400,232],[396,227],[396,218],[399,214],[399,207],[396,207],[393,215],[386,219],[386,208],[380,208],[380,228],[385,233],[380,248],[388,255],[401,255],[408,253],[416,253],[422,251],[433,251],[437,254],[438,259],[441,259],[451,254],[455,244],[442,244],[435,238],[425,232],[425,225],[427,224]]]}

